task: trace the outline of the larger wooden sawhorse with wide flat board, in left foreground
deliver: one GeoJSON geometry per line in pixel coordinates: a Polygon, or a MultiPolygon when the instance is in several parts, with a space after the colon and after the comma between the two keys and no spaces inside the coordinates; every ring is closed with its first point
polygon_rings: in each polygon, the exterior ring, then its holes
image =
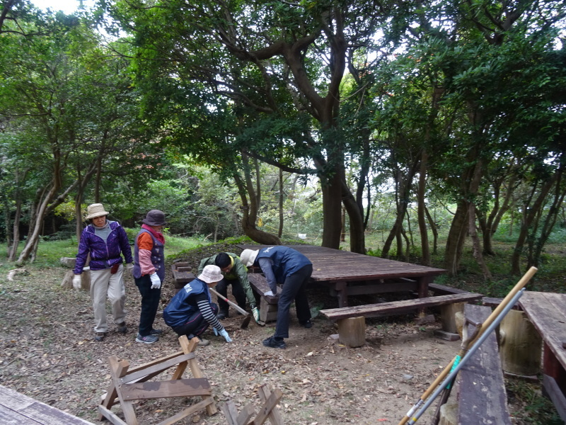
{"type": "Polygon", "coordinates": [[[199,339],[193,338],[189,341],[187,336],[183,335],[180,336],[179,342],[182,351],[132,369],[129,368],[127,361],[119,361],[116,356],[110,356],[108,363],[110,363],[112,382],[108,387],[108,392],[103,396],[102,402],[98,405],[98,420],[108,419],[115,425],[139,425],[132,404],[133,400],[168,397],[202,397],[202,401],[159,422],[158,425],[174,424],[176,421],[180,421],[180,419],[204,408],[207,409],[209,415],[218,412],[210,384],[207,378],[204,378],[195,356],[199,339]],[[171,380],[146,382],[173,366],[176,366],[176,369],[171,380]],[[187,366],[194,378],[181,378],[187,366]],[[112,405],[118,402],[122,407],[126,421],[122,421],[110,410],[112,405]]]}

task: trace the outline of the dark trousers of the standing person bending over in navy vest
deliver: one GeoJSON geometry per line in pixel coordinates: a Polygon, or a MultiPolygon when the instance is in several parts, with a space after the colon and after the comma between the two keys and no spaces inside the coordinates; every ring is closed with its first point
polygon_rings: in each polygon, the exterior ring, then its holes
{"type": "Polygon", "coordinates": [[[313,266],[309,264],[285,279],[279,302],[277,302],[277,324],[274,335],[276,338],[289,338],[289,309],[293,300],[299,322],[304,323],[311,319],[311,308],[308,307],[306,296],[306,283],[311,278],[311,273],[313,273],[313,266]]]}

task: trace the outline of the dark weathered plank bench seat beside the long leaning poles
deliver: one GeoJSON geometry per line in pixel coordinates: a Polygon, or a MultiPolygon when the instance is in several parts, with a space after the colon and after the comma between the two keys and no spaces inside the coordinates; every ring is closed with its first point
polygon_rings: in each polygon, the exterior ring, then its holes
{"type": "MultiPolygon", "coordinates": [[[[464,306],[466,319],[475,323],[485,322],[490,314],[490,307],[464,306]]],[[[458,424],[511,425],[495,332],[468,358],[459,378],[458,424]]]]}

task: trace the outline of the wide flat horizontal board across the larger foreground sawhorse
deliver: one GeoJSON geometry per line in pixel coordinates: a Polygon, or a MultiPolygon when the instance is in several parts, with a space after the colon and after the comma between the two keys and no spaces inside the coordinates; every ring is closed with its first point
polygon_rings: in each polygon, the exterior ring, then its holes
{"type": "Polygon", "coordinates": [[[175,379],[157,382],[137,382],[120,388],[126,401],[170,397],[212,395],[207,378],[175,379]]]}

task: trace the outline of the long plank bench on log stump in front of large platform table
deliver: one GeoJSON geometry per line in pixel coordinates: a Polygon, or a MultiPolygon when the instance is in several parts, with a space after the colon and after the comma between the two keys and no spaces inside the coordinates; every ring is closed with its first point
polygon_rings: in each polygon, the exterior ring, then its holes
{"type": "Polygon", "coordinates": [[[355,347],[365,344],[365,317],[385,317],[393,314],[404,314],[425,307],[450,305],[455,302],[472,302],[480,300],[481,297],[483,295],[475,293],[439,295],[437,297],[320,310],[320,314],[328,317],[333,322],[337,322],[340,342],[355,347]]]}

